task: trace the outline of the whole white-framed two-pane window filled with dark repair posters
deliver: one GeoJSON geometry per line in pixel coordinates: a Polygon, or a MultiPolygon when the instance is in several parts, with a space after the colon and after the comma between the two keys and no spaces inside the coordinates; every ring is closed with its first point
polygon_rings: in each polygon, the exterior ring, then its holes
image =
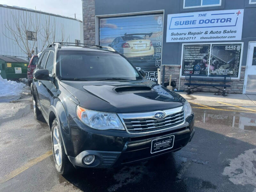
{"type": "Polygon", "coordinates": [[[242,44],[183,45],[181,75],[239,77],[242,44]]]}

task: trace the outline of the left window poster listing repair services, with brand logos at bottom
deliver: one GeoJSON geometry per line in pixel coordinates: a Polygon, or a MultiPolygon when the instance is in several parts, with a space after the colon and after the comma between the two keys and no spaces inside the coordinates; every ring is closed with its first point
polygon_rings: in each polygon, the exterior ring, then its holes
{"type": "Polygon", "coordinates": [[[182,75],[207,75],[211,44],[184,45],[182,75]]]}

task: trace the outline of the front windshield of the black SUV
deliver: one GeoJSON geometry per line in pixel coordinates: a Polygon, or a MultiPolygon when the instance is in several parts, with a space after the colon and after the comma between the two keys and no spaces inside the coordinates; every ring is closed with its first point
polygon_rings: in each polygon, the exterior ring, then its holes
{"type": "Polygon", "coordinates": [[[138,72],[121,55],[95,51],[60,51],[60,76],[74,80],[141,79],[138,72]]]}

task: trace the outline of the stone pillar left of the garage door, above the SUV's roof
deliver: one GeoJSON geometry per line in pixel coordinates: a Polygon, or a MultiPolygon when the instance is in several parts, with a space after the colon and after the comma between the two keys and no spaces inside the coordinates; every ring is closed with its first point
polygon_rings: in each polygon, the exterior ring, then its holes
{"type": "Polygon", "coordinates": [[[84,43],[95,44],[95,2],[82,0],[84,21],[84,43]]]}

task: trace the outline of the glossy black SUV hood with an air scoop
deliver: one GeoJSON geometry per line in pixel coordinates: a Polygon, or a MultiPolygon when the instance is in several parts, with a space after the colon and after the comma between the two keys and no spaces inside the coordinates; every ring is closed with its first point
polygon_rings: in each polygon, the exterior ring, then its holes
{"type": "Polygon", "coordinates": [[[122,81],[64,81],[81,107],[104,112],[127,113],[182,106],[181,96],[147,79],[122,81]]]}

